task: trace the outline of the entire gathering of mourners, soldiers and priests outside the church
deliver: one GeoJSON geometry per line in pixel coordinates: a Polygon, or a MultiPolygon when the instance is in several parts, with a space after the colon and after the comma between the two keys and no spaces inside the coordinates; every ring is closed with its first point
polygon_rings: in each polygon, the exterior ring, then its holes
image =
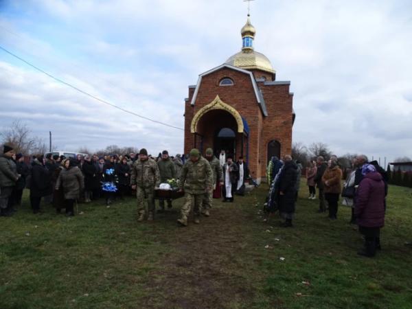
{"type": "MultiPolygon", "coordinates": [[[[380,250],[380,229],[384,226],[388,176],[377,161],[368,162],[359,155],[352,161],[352,171],[343,186],[343,172],[338,158],[328,161],[321,156],[310,162],[305,175],[308,198],[319,198],[319,213],[328,211],[328,218],[336,220],[339,199],[351,207],[351,224],[357,224],[365,237],[365,247],[358,253],[368,257],[380,250]],[[317,191],[317,192],[316,192],[317,191]],[[316,194],[318,193],[318,197],[316,194]]],[[[299,161],[286,155],[280,160],[272,157],[266,175],[270,191],[264,209],[271,214],[279,211],[284,227],[293,227],[295,203],[304,168],[299,161]]],[[[233,203],[235,194],[244,195],[245,181],[254,183],[247,163],[242,157],[233,157],[222,150],[215,155],[208,148],[205,154],[192,149],[187,155],[170,157],[167,150],[153,158],[142,148],[139,154],[127,155],[78,155],[63,157],[48,154],[32,157],[29,164],[25,157],[16,154],[11,146],[3,146],[0,155],[0,215],[12,216],[21,205],[23,190],[30,190],[30,205],[34,214],[41,213],[43,204],[52,204],[60,214],[74,216],[78,201],[90,203],[104,198],[110,207],[117,199],[127,195],[137,197],[137,220],[154,220],[155,192],[159,189],[176,190],[185,196],[177,222],[187,226],[191,209],[194,223],[201,216],[210,216],[213,198],[222,196],[223,202],[233,203]]],[[[172,207],[172,198],[159,199],[157,212],[172,207]]]]}

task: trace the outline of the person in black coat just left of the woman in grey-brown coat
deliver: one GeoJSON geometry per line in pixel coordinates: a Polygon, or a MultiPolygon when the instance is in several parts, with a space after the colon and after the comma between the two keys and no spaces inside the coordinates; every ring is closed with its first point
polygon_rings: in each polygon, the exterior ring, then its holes
{"type": "Polygon", "coordinates": [[[52,194],[51,183],[50,172],[43,165],[43,156],[39,156],[32,162],[32,179],[30,181],[30,204],[34,214],[40,212],[41,198],[52,194]]]}

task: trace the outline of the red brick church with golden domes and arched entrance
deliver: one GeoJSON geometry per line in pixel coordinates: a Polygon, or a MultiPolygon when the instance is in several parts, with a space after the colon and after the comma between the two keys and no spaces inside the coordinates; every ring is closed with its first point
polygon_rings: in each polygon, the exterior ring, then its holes
{"type": "Polygon", "coordinates": [[[185,153],[225,150],[247,161],[264,181],[272,156],[290,155],[295,121],[290,82],[277,81],[271,62],[253,49],[255,27],[242,27],[242,50],[189,86],[185,99],[185,153]]]}

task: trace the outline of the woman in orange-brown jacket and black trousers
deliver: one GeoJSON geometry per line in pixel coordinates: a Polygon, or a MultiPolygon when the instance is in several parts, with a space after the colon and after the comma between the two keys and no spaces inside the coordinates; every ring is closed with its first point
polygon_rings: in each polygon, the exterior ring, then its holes
{"type": "Polygon", "coordinates": [[[338,213],[338,201],[341,194],[342,171],[334,159],[328,161],[328,168],[322,176],[325,190],[325,200],[329,205],[329,218],[336,220],[338,213]]]}

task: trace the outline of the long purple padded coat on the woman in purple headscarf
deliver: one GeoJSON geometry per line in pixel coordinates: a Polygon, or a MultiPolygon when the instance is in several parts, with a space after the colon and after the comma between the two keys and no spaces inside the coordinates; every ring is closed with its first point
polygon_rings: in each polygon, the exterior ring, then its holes
{"type": "Polygon", "coordinates": [[[365,174],[356,192],[355,215],[361,227],[385,225],[385,183],[378,172],[365,174]]]}

